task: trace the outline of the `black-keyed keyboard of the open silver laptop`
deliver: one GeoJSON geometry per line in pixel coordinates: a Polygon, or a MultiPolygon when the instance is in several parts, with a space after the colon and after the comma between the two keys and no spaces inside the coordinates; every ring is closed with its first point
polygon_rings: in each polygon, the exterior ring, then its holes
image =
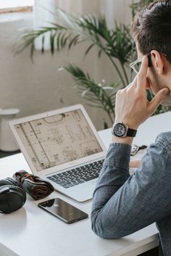
{"type": "Polygon", "coordinates": [[[91,162],[88,165],[83,165],[78,168],[67,170],[64,173],[55,174],[47,178],[59,184],[60,186],[63,186],[65,189],[68,189],[71,186],[76,186],[80,183],[98,178],[103,162],[104,160],[91,162]]]}

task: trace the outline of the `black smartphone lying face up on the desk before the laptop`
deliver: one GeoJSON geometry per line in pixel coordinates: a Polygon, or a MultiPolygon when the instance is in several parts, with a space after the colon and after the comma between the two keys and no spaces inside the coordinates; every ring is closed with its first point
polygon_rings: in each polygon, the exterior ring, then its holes
{"type": "Polygon", "coordinates": [[[59,198],[41,202],[38,204],[38,207],[41,207],[41,209],[46,210],[46,212],[51,213],[67,224],[88,218],[88,214],[86,212],[79,210],[78,208],[59,198]]]}

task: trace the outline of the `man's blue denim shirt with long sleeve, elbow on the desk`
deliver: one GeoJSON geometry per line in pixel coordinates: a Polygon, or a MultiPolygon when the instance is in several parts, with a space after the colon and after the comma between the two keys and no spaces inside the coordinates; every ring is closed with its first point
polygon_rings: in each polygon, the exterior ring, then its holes
{"type": "Polygon", "coordinates": [[[130,149],[128,144],[109,145],[93,194],[93,231],[117,239],[156,222],[164,256],[170,256],[171,132],[159,134],[133,175],[130,149]]]}

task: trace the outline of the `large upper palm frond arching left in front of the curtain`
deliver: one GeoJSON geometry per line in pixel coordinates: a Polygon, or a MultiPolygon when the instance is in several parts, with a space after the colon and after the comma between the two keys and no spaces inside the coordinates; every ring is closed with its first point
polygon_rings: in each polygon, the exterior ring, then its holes
{"type": "MultiPolygon", "coordinates": [[[[31,57],[33,57],[33,45],[35,44],[36,39],[41,37],[43,38],[43,40],[41,40],[42,52],[44,49],[45,38],[49,37],[52,54],[54,54],[54,49],[60,51],[64,47],[68,47],[70,50],[72,46],[76,46],[83,41],[88,41],[90,45],[85,51],[85,56],[91,51],[93,46],[98,46],[99,57],[101,57],[101,53],[104,52],[104,54],[107,54],[107,57],[112,61],[112,64],[114,60],[111,57],[120,57],[122,58],[121,64],[125,64],[125,59],[129,54],[126,51],[130,51],[130,45],[126,47],[128,36],[126,37],[125,35],[128,30],[124,30],[123,27],[122,33],[120,34],[118,27],[117,33],[114,32],[114,30],[109,30],[103,15],[99,15],[99,17],[86,15],[76,18],[72,15],[68,15],[61,9],[57,9],[57,23],[53,22],[49,25],[49,27],[43,27],[38,30],[25,31],[25,33],[22,34],[20,41],[20,51],[31,46],[31,57]],[[122,38],[118,41],[118,38],[121,36],[122,38]],[[120,42],[122,42],[122,47],[120,46],[120,42]]],[[[120,70],[117,68],[117,65],[114,65],[114,67],[124,85],[126,82],[123,80],[120,70]]]]}

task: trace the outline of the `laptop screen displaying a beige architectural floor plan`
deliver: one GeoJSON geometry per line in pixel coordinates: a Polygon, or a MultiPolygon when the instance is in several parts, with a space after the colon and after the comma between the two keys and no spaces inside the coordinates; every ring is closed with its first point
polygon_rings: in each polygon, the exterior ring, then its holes
{"type": "Polygon", "coordinates": [[[14,125],[37,171],[102,152],[81,110],[14,125]]]}

